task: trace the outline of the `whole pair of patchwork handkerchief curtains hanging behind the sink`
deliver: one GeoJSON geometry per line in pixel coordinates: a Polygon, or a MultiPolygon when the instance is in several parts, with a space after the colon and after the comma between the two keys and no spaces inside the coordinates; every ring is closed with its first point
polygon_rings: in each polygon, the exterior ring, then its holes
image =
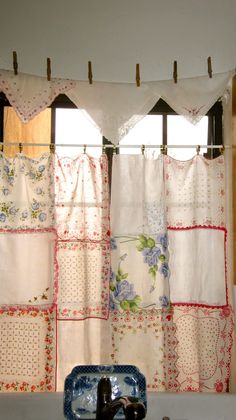
{"type": "Polygon", "coordinates": [[[225,160],[0,154],[0,388],[134,364],[152,391],[227,391],[225,160]],[[110,226],[111,219],[111,226],[110,226]]]}

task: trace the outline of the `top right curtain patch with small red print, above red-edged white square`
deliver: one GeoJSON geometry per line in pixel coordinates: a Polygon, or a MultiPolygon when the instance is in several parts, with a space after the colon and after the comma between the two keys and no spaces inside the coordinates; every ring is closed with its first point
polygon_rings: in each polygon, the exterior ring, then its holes
{"type": "Polygon", "coordinates": [[[225,226],[225,162],[195,156],[188,161],[165,159],[168,225],[225,226]]]}

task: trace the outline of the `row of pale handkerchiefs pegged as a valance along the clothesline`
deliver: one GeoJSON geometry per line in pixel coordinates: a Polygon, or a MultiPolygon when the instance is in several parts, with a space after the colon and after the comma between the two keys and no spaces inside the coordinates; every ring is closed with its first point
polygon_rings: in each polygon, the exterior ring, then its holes
{"type": "Polygon", "coordinates": [[[162,98],[178,114],[193,124],[206,115],[222,97],[233,71],[180,79],[142,83],[108,83],[52,79],[0,70],[0,91],[23,122],[28,122],[64,93],[80,109],[85,110],[101,133],[117,144],[162,98]]]}

